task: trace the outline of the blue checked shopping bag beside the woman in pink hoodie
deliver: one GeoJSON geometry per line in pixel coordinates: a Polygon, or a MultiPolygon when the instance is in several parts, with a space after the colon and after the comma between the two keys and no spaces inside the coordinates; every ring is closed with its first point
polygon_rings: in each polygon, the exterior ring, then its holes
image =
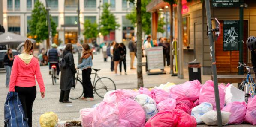
{"type": "Polygon", "coordinates": [[[28,127],[17,92],[8,92],[4,104],[4,127],[28,127]]]}

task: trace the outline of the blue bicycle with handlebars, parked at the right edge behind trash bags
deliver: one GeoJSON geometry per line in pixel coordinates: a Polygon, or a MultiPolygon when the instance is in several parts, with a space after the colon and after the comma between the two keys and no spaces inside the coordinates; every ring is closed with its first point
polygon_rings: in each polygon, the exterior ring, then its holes
{"type": "Polygon", "coordinates": [[[247,103],[248,98],[250,96],[254,97],[256,95],[255,83],[254,83],[252,75],[250,73],[250,70],[253,69],[253,67],[247,66],[246,64],[241,64],[240,62],[238,64],[240,66],[238,66],[237,68],[242,66],[242,67],[246,68],[246,70],[247,70],[247,77],[238,86],[238,89],[240,89],[241,91],[244,91],[244,93],[245,93],[244,99],[245,99],[245,102],[247,103]]]}

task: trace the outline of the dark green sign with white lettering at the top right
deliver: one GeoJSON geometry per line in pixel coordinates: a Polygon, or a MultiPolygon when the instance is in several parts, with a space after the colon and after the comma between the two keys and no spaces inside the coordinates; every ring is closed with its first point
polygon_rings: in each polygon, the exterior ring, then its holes
{"type": "Polygon", "coordinates": [[[240,7],[241,3],[244,3],[244,0],[212,0],[214,7],[240,7]]]}

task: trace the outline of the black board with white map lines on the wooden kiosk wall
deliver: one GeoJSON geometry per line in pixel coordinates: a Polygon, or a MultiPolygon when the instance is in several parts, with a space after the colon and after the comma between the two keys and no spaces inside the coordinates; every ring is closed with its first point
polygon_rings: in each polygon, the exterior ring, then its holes
{"type": "Polygon", "coordinates": [[[223,50],[234,51],[239,47],[239,21],[223,21],[223,50]]]}

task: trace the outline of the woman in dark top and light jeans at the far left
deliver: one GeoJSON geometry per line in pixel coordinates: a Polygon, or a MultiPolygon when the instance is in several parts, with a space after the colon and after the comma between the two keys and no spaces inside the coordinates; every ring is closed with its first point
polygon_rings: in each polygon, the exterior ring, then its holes
{"type": "Polygon", "coordinates": [[[12,55],[12,49],[9,48],[6,52],[6,55],[4,55],[4,58],[3,58],[3,64],[4,64],[4,68],[6,70],[6,81],[5,81],[6,87],[9,87],[13,59],[14,59],[14,57],[12,55]]]}

